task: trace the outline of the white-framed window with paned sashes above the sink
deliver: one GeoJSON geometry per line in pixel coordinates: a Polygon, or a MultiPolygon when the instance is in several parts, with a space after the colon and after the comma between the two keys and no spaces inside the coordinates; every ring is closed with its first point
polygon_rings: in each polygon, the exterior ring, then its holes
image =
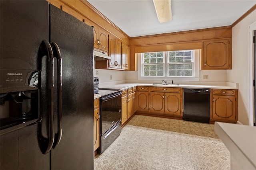
{"type": "Polygon", "coordinates": [[[138,80],[199,81],[200,50],[138,54],[138,80]]]}

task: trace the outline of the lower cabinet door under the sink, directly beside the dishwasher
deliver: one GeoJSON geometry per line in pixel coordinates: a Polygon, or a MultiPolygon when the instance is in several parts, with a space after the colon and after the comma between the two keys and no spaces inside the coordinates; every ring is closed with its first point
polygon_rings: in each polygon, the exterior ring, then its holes
{"type": "Polygon", "coordinates": [[[165,113],[172,115],[181,115],[180,94],[165,93],[165,113]]]}

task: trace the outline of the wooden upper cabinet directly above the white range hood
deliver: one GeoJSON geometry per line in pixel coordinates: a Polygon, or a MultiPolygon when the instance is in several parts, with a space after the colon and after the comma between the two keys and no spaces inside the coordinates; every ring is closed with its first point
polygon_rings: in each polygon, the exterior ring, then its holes
{"type": "Polygon", "coordinates": [[[108,52],[108,33],[94,25],[94,47],[108,52]]]}

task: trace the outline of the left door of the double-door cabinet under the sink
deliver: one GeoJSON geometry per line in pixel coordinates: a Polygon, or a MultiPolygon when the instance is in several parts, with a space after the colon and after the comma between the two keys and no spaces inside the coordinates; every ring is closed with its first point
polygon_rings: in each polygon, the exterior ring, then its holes
{"type": "Polygon", "coordinates": [[[151,92],[150,93],[150,111],[164,113],[164,93],[151,92]]]}

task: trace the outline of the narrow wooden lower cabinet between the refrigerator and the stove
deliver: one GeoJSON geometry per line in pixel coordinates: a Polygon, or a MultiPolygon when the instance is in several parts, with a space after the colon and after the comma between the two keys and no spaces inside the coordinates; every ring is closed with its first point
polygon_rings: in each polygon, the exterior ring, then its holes
{"type": "Polygon", "coordinates": [[[99,98],[94,99],[94,151],[100,147],[100,110],[99,98]]]}

